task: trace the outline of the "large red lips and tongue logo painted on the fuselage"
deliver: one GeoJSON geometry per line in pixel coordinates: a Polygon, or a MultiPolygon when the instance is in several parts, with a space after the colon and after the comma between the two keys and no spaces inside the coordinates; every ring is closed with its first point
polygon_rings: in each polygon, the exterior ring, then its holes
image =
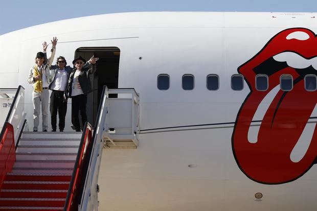
{"type": "Polygon", "coordinates": [[[281,184],[303,176],[316,162],[317,91],[307,91],[304,77],[316,75],[317,38],[303,28],[284,30],[238,68],[250,87],[237,115],[232,148],[241,171],[264,184],[281,184]],[[266,91],[255,78],[268,76],[266,91]],[[280,77],[291,76],[290,91],[280,89],[280,77]],[[260,119],[257,119],[260,118],[260,119]]]}

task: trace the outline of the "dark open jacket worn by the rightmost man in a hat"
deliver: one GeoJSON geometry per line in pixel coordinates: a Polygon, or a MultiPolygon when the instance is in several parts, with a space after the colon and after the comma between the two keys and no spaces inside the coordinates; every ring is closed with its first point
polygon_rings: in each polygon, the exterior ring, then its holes
{"type": "MultiPolygon", "coordinates": [[[[80,75],[78,76],[78,81],[81,86],[81,90],[84,95],[87,95],[90,91],[92,91],[92,84],[90,83],[89,75],[95,73],[96,65],[89,64],[88,67],[82,68],[80,75]]],[[[72,84],[74,80],[76,69],[74,69],[70,75],[70,79],[67,84],[67,97],[72,98],[72,84]]]]}

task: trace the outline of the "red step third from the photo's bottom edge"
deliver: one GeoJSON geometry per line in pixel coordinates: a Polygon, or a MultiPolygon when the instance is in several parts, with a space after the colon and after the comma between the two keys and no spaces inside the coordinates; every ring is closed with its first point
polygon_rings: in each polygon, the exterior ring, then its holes
{"type": "Polygon", "coordinates": [[[0,198],[66,198],[67,190],[2,190],[0,198]]]}

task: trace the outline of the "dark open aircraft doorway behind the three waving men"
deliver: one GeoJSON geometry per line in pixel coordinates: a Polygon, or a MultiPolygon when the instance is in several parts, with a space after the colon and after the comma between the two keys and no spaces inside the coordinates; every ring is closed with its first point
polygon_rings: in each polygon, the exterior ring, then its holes
{"type": "Polygon", "coordinates": [[[99,57],[99,61],[96,72],[90,75],[93,91],[87,96],[86,113],[88,122],[94,127],[103,86],[118,88],[120,49],[117,47],[84,47],[78,48],[75,52],[75,58],[81,56],[86,60],[93,55],[99,57]]]}

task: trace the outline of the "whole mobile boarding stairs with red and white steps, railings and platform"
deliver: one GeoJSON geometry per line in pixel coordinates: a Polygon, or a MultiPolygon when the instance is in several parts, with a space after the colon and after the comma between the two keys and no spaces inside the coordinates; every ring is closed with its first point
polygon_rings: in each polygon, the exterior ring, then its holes
{"type": "MultiPolygon", "coordinates": [[[[1,90],[0,90],[1,92],[1,90]]],[[[135,149],[139,95],[103,89],[95,127],[83,132],[29,132],[19,86],[1,132],[1,210],[98,210],[103,148],[135,149]],[[117,98],[109,98],[117,94],[117,98]]]]}

